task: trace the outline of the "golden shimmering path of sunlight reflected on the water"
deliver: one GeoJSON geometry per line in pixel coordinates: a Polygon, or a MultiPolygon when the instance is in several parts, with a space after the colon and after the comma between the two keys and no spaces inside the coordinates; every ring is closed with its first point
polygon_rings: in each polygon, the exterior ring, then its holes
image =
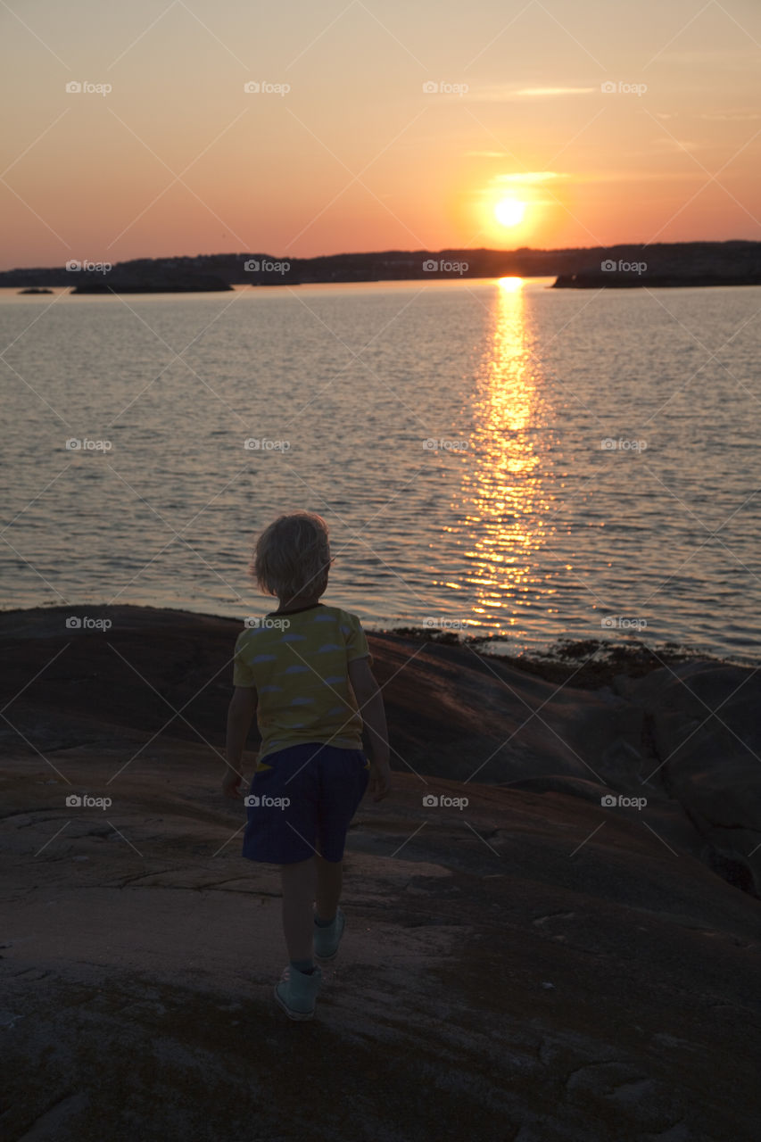
{"type": "MultiPolygon", "coordinates": [[[[554,594],[539,550],[554,528],[545,523],[553,496],[543,475],[540,433],[551,409],[532,355],[532,329],[521,278],[502,278],[491,299],[491,330],[463,419],[473,425],[470,464],[463,467],[457,530],[476,536],[464,552],[467,584],[480,624],[518,627],[531,597],[554,594]],[[489,622],[491,620],[491,624],[489,622]]],[[[545,616],[556,613],[543,605],[545,616]]],[[[515,630],[518,634],[518,629],[515,630]]]]}

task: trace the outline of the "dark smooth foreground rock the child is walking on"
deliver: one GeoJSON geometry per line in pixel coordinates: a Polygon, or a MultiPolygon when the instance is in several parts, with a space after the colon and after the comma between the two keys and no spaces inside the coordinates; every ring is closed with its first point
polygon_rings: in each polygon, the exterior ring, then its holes
{"type": "Polygon", "coordinates": [[[758,675],[582,690],[371,636],[395,788],[354,819],[346,935],[298,1024],[278,871],[219,794],[238,629],[0,617],[5,1137],[758,1136],[758,675]],[[744,885],[705,855],[731,820],[744,885]]]}

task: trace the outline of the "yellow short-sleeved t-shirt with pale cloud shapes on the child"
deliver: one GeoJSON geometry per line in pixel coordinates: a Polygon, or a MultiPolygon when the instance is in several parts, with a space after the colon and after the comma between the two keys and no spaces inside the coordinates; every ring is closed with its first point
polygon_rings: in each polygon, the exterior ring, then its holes
{"type": "Polygon", "coordinates": [[[233,685],[256,686],[259,765],[267,754],[307,741],[362,749],[363,723],[347,670],[355,658],[373,664],[359,618],[325,603],[267,614],[241,632],[233,685]]]}

